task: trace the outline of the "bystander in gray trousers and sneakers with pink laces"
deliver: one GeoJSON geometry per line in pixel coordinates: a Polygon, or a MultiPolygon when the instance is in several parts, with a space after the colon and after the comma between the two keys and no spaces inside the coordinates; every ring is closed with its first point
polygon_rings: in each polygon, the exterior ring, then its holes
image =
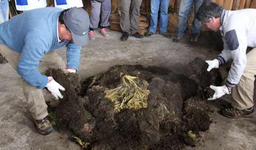
{"type": "Polygon", "coordinates": [[[101,34],[104,37],[108,37],[109,34],[107,33],[106,26],[109,26],[108,18],[111,12],[111,0],[103,0],[103,2],[99,2],[97,0],[91,0],[91,3],[92,3],[92,12],[90,16],[89,39],[95,40],[94,29],[96,29],[99,25],[101,10],[102,10],[101,34]]]}

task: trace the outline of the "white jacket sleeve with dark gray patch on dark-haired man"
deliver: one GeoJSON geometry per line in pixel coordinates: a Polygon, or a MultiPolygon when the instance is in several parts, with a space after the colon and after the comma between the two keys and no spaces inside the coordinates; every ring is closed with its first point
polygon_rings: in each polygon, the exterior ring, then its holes
{"type": "Polygon", "coordinates": [[[247,36],[245,29],[233,29],[225,33],[224,50],[218,58],[222,57],[224,58],[223,60],[228,58],[233,59],[226,81],[226,85],[229,87],[234,87],[238,84],[243,74],[247,64],[246,49],[247,36]]]}

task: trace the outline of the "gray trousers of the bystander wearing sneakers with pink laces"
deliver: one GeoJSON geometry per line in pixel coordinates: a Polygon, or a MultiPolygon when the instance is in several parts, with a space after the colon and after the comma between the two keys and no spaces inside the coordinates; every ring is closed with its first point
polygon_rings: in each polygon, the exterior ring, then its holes
{"type": "Polygon", "coordinates": [[[100,13],[102,9],[102,22],[101,26],[109,26],[108,18],[111,12],[111,0],[104,0],[102,3],[94,2],[92,3],[92,12],[90,16],[90,28],[96,29],[100,21],[100,13]]]}

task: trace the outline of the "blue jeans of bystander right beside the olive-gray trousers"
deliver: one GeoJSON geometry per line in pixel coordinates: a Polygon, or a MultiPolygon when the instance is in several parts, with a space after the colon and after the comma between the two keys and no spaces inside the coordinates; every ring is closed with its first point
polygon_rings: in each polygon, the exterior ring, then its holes
{"type": "Polygon", "coordinates": [[[168,25],[168,6],[169,6],[170,0],[150,0],[150,27],[149,31],[155,33],[156,32],[156,26],[158,22],[158,11],[159,11],[159,5],[160,5],[160,22],[159,22],[159,30],[160,33],[167,31],[167,25],[168,25]]]}

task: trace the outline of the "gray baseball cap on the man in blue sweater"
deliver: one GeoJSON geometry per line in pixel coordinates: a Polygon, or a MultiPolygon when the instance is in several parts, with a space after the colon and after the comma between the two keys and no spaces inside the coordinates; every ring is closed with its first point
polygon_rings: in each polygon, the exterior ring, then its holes
{"type": "Polygon", "coordinates": [[[71,36],[75,44],[83,46],[89,43],[90,19],[88,13],[82,8],[71,8],[63,15],[66,26],[71,31],[71,36]]]}

